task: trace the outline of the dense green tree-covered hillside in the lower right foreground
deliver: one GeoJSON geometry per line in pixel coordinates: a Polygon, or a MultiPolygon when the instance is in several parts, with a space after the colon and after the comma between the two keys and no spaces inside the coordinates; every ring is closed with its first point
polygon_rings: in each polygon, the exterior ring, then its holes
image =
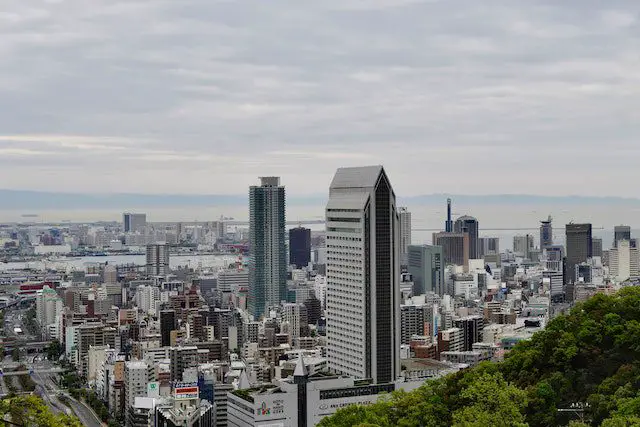
{"type": "Polygon", "coordinates": [[[430,381],[321,427],[640,427],[640,287],[577,304],[501,363],[430,381]],[[564,411],[580,405],[581,411],[564,411]],[[561,411],[559,411],[559,409],[561,411]]]}

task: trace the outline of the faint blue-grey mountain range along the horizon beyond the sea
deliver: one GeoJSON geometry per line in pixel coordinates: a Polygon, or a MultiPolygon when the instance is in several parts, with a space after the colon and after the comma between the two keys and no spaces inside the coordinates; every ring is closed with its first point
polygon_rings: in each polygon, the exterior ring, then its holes
{"type": "MultiPolygon", "coordinates": [[[[400,197],[399,204],[409,206],[444,204],[450,197],[454,203],[473,205],[486,204],[537,204],[537,205],[635,205],[640,199],[623,197],[588,196],[539,196],[527,194],[455,195],[427,194],[400,197]]],[[[44,191],[22,191],[0,189],[0,210],[15,209],[132,209],[171,206],[241,206],[247,204],[248,195],[215,194],[86,194],[57,193],[44,191]]],[[[322,205],[326,195],[289,195],[288,205],[322,205]]]]}

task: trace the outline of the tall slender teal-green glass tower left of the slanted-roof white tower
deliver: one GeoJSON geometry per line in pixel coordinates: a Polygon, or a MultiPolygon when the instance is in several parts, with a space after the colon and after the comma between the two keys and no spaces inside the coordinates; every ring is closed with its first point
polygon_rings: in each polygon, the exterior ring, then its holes
{"type": "Polygon", "coordinates": [[[279,177],[249,189],[249,313],[255,319],[287,297],[285,193],[279,177]]]}

